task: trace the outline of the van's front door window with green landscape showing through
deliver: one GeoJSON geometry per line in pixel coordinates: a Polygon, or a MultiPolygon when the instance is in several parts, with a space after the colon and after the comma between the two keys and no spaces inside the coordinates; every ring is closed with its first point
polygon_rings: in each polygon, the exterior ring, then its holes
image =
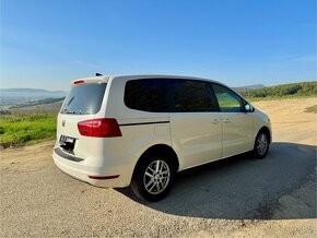
{"type": "Polygon", "coordinates": [[[213,91],[219,103],[220,110],[223,112],[240,112],[243,110],[242,98],[231,90],[213,84],[213,91]]]}

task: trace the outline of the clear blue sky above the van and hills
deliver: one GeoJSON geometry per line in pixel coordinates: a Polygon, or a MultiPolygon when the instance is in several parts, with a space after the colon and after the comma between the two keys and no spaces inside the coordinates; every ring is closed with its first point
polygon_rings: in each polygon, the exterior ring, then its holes
{"type": "Polygon", "coordinates": [[[1,88],[103,74],[316,80],[315,0],[0,0],[1,88]]]}

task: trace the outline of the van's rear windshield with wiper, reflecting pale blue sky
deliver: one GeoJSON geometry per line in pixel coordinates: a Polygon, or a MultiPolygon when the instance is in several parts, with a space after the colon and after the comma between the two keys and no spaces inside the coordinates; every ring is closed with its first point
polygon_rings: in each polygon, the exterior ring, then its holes
{"type": "Polygon", "coordinates": [[[61,114],[91,115],[99,111],[106,83],[89,83],[73,86],[61,107],[61,114]]]}

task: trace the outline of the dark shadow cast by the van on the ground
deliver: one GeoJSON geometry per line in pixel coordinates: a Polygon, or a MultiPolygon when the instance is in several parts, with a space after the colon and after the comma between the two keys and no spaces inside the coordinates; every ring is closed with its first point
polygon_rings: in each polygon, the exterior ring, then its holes
{"type": "Polygon", "coordinates": [[[142,205],[173,215],[226,219],[314,218],[315,168],[316,146],[277,142],[271,144],[265,159],[247,153],[179,172],[171,193],[156,203],[140,200],[130,188],[116,190],[142,205]],[[293,207],[286,209],[292,212],[273,215],[273,211],[280,210],[280,198],[307,182],[313,183],[310,189],[295,195],[295,200],[290,197],[294,201],[286,205],[293,207]],[[301,210],[298,203],[308,210],[301,210]]]}

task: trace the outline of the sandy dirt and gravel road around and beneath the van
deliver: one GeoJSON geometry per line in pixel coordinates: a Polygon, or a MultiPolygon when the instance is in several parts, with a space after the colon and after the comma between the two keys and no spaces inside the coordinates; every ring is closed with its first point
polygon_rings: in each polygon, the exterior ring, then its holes
{"type": "Polygon", "coordinates": [[[54,142],[1,151],[1,237],[314,237],[316,99],[260,102],[271,117],[266,159],[235,156],[180,172],[158,203],[101,189],[52,164],[54,142]]]}

